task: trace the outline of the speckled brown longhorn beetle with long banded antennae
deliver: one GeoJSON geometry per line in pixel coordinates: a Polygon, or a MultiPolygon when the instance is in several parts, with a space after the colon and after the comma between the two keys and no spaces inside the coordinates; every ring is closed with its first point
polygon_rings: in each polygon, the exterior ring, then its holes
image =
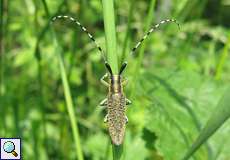
{"type": "MultiPolygon", "coordinates": [[[[106,61],[105,54],[101,47],[97,44],[93,36],[86,30],[84,26],[81,25],[80,22],[78,22],[75,18],[70,16],[63,16],[59,15],[56,17],[53,17],[51,22],[53,23],[57,19],[68,19],[72,21],[74,24],[79,26],[83,32],[85,32],[88,37],[96,44],[99,52],[102,55],[102,58],[105,63],[105,67],[108,70],[108,73],[106,73],[102,78],[101,82],[106,87],[108,87],[109,93],[106,99],[104,99],[100,106],[106,106],[107,108],[107,115],[104,118],[104,122],[108,123],[108,130],[110,137],[112,139],[112,143],[115,145],[120,145],[123,143],[124,135],[125,135],[125,125],[128,122],[128,118],[125,115],[126,111],[126,105],[131,104],[131,101],[125,97],[125,94],[123,92],[123,87],[127,84],[127,79],[124,79],[122,77],[122,72],[127,66],[127,62],[124,62],[120,68],[120,71],[118,74],[113,74],[112,69],[109,65],[109,63],[106,61]],[[109,78],[109,82],[105,81],[105,78],[109,78]]],[[[174,22],[179,26],[176,20],[174,19],[167,19],[163,20],[160,23],[156,24],[150,30],[143,36],[143,38],[135,45],[135,47],[131,50],[131,54],[135,52],[135,50],[141,45],[141,43],[152,33],[154,30],[159,28],[160,25],[168,22],[174,22]]]]}

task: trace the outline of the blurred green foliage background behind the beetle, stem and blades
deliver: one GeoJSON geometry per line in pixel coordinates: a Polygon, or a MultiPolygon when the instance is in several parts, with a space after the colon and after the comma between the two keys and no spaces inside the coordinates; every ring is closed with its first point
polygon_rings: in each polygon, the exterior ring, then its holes
{"type": "MultiPolygon", "coordinates": [[[[177,160],[185,153],[229,85],[230,0],[115,1],[117,52],[128,61],[125,93],[133,104],[124,142],[126,160],[177,160]],[[151,24],[167,24],[130,56],[151,24]]],[[[49,31],[55,15],[77,18],[105,50],[100,0],[1,0],[0,137],[21,137],[23,159],[76,159],[57,54],[49,31]]],[[[53,25],[60,46],[87,160],[111,159],[98,106],[106,72],[95,45],[79,27],[53,25]]],[[[230,159],[230,121],[194,156],[230,159]]]]}

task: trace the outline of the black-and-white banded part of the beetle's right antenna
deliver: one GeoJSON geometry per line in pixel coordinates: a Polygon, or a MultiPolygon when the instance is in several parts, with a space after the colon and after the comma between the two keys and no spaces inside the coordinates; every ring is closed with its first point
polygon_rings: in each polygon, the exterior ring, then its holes
{"type": "Polygon", "coordinates": [[[153,32],[155,31],[156,29],[158,29],[162,24],[165,24],[165,23],[170,23],[170,22],[173,22],[173,23],[176,23],[178,28],[180,29],[180,24],[175,20],[175,19],[166,19],[166,20],[163,20],[161,21],[160,23],[156,24],[155,26],[153,26],[152,28],[150,28],[150,30],[144,35],[144,37],[135,45],[135,47],[131,50],[131,54],[133,54],[136,49],[138,49],[138,47],[143,43],[143,41],[153,32]]]}

